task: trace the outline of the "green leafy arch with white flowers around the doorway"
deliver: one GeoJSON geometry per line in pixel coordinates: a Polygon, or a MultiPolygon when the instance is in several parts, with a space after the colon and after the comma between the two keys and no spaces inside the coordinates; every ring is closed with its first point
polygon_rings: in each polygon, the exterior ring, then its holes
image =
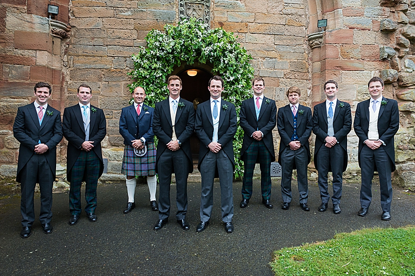
{"type": "MultiPolygon", "coordinates": [[[[145,40],[147,47],[133,55],[134,70],[129,73],[133,79],[130,92],[141,86],[146,92],[146,103],[154,104],[167,98],[167,76],[182,62],[213,65],[212,74],[219,74],[225,81],[222,97],[233,103],[239,116],[243,100],[249,98],[253,68],[252,57],[239,46],[233,33],[222,28],[206,30],[205,25],[194,18],[185,19],[178,26],[166,25],[165,32],[150,31],[145,40]]],[[[238,117],[239,118],[239,117],[238,117]]],[[[239,127],[233,140],[235,153],[235,178],[243,175],[240,151],[243,130],[239,127]]]]}

